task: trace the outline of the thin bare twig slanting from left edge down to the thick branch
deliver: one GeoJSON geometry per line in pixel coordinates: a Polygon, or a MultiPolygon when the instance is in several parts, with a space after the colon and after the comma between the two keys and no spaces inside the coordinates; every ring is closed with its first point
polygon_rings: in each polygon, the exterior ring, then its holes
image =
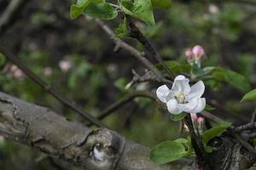
{"type": "Polygon", "coordinates": [[[89,122],[95,124],[98,127],[106,127],[102,122],[97,120],[95,117],[91,116],[87,111],[84,111],[82,107],[76,105],[73,101],[65,99],[61,94],[58,94],[55,88],[52,88],[48,83],[44,82],[40,77],[36,76],[31,70],[29,70],[22,61],[17,58],[14,54],[10,53],[6,48],[0,45],[0,52],[5,55],[7,59],[17,65],[21,71],[23,71],[27,77],[30,77],[34,82],[37,82],[41,88],[44,88],[49,94],[52,94],[55,99],[58,99],[64,105],[67,105],[68,108],[72,109],[83,116],[89,122]]]}

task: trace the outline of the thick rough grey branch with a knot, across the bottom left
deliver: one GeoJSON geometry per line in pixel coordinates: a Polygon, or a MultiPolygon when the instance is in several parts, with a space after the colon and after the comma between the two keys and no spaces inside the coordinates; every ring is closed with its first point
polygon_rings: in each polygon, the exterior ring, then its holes
{"type": "Polygon", "coordinates": [[[0,92],[0,133],[17,142],[72,162],[86,170],[191,169],[191,161],[157,165],[149,149],[107,128],[68,122],[48,108],[0,92]]]}

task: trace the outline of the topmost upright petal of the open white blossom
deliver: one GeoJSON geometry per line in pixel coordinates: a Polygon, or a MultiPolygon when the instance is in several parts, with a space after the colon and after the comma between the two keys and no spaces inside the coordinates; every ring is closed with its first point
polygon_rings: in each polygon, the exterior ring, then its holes
{"type": "Polygon", "coordinates": [[[183,92],[185,95],[189,94],[189,79],[185,78],[183,75],[177,76],[172,84],[172,91],[183,92]]]}

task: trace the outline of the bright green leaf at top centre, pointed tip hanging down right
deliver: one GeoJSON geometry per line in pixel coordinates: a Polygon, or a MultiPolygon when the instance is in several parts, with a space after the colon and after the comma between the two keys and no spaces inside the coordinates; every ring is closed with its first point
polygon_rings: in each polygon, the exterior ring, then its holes
{"type": "Polygon", "coordinates": [[[131,3],[130,0],[122,0],[120,5],[125,14],[129,14],[138,20],[143,20],[149,26],[154,25],[151,0],[134,0],[134,3],[131,3]]]}

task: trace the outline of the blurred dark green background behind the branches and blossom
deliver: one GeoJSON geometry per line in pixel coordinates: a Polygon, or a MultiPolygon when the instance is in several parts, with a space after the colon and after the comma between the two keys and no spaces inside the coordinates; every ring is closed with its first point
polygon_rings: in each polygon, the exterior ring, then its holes
{"type": "MultiPolygon", "coordinates": [[[[22,1],[22,0],[21,0],[22,1]]],[[[0,0],[0,18],[11,1],[0,0]]],[[[141,65],[115,44],[96,25],[80,17],[71,20],[69,9],[75,1],[26,0],[7,26],[0,25],[0,43],[22,59],[25,65],[60,94],[82,105],[93,116],[101,114],[114,101],[136,90],[153,91],[158,83],[139,83],[129,89],[134,69],[141,65]]],[[[184,51],[200,44],[206,52],[202,65],[222,66],[237,71],[256,87],[256,1],[172,1],[168,10],[155,10],[156,25],[136,25],[150,38],[163,59],[186,63],[184,51]]],[[[107,21],[113,29],[120,19],[107,21]]],[[[143,50],[141,44],[125,39],[143,50]]],[[[84,122],[12,63],[1,59],[0,88],[20,99],[47,106],[68,120],[84,122]]],[[[239,102],[245,92],[220,83],[207,85],[207,103],[213,114],[242,124],[253,112],[252,102],[239,102]]],[[[151,147],[178,136],[178,123],[151,99],[137,98],[103,119],[108,127],[140,144],[151,147]]],[[[0,169],[75,170],[67,162],[44,155],[0,136],[0,169]]]]}

